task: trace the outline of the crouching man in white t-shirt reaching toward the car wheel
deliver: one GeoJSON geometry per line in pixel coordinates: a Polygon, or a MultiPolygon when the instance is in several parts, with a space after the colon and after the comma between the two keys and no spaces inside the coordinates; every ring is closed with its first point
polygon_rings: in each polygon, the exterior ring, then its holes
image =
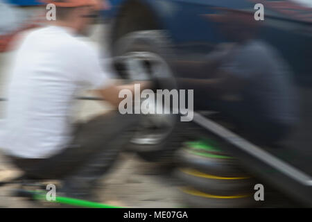
{"type": "MultiPolygon", "coordinates": [[[[101,6],[95,0],[54,3],[57,20],[21,42],[8,87],[0,147],[28,178],[62,179],[67,196],[89,191],[112,166],[131,136],[136,115],[110,112],[74,127],[71,108],[78,93],[94,89],[116,108],[121,89],[110,80],[95,49],[79,40],[101,6]]],[[[148,83],[139,82],[141,89],[148,83]]]]}

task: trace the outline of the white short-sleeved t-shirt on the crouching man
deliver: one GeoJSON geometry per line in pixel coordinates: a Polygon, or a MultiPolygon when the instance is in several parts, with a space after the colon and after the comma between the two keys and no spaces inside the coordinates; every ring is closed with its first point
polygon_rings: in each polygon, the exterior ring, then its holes
{"type": "Polygon", "coordinates": [[[13,62],[0,147],[10,155],[46,158],[71,139],[71,110],[82,89],[109,81],[95,47],[70,28],[29,33],[13,62]]]}

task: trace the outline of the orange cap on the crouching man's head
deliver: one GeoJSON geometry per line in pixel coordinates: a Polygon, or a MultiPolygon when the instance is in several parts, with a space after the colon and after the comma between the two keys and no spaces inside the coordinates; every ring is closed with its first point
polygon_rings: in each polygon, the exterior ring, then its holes
{"type": "Polygon", "coordinates": [[[53,3],[57,7],[73,8],[81,6],[92,6],[97,10],[107,10],[110,8],[106,0],[42,0],[43,3],[53,3]]]}

